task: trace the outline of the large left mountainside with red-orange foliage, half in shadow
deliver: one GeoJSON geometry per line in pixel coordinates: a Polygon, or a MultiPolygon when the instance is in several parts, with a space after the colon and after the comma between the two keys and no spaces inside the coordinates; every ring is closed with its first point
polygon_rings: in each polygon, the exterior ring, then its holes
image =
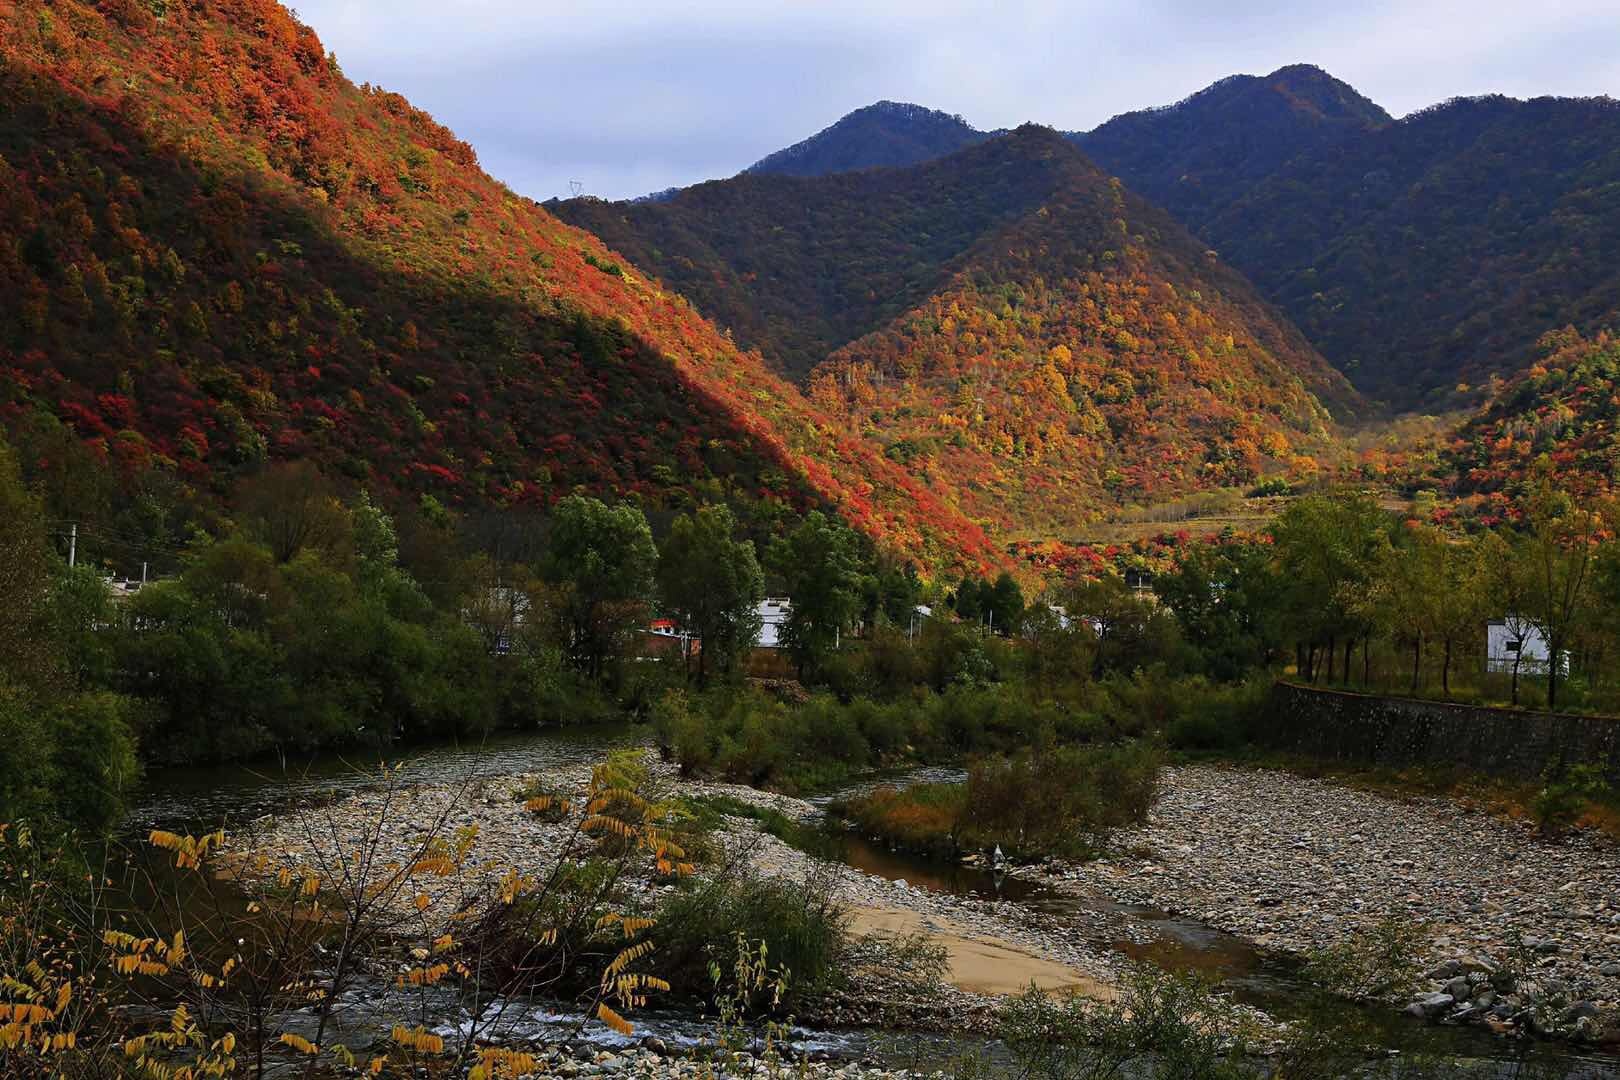
{"type": "MultiPolygon", "coordinates": [[[[0,3],[0,419],[227,500],[269,458],[450,504],[575,487],[975,528],[266,0],[0,3]]],[[[36,461],[50,468],[52,461],[36,461]]]]}

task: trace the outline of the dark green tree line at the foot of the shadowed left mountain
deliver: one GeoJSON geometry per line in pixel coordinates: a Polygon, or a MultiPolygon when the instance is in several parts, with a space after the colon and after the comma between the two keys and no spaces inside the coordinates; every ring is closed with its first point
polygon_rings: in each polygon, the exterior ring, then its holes
{"type": "Polygon", "coordinates": [[[130,552],[102,531],[68,565],[0,444],[0,712],[19,753],[0,766],[0,818],[105,827],[139,764],[272,750],[386,746],[637,716],[667,685],[734,682],[766,583],[807,680],[862,622],[902,622],[914,568],[812,512],[750,536],[724,504],[659,520],[635,502],[567,495],[544,517],[384,505],[308,463],[272,465],[230,515],[154,580],[115,599],[130,552]],[[109,559],[117,555],[115,559],[109,559]],[[656,614],[695,640],[648,662],[656,614]]]}

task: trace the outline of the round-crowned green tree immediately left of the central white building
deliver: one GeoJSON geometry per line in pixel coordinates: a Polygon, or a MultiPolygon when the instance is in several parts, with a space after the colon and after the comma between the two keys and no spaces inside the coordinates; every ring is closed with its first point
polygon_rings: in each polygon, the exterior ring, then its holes
{"type": "Polygon", "coordinates": [[[666,610],[700,640],[698,683],[710,669],[731,674],[760,636],[765,573],[753,541],[737,539],[726,505],[682,513],[658,552],[658,593],[666,610]]]}

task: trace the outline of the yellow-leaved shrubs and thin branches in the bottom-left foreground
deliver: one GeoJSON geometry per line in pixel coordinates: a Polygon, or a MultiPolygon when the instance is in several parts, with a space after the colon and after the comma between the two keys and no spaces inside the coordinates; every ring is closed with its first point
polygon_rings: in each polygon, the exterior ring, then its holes
{"type": "Polygon", "coordinates": [[[536,1069],[501,1044],[518,994],[629,1031],[669,989],[629,884],[692,868],[635,756],[593,771],[552,865],[484,861],[476,827],[407,823],[399,779],[379,785],[353,847],[308,861],[251,831],[157,831],[75,876],[52,866],[76,852],[0,831],[0,1074],[514,1080],[536,1069]],[[386,858],[402,826],[408,850],[386,858]],[[470,1012],[446,1033],[450,1002],[470,1012]]]}

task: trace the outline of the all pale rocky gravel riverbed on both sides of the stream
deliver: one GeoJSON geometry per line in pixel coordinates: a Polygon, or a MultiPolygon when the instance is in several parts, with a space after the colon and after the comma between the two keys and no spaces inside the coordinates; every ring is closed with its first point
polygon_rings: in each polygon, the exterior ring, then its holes
{"type": "MultiPolygon", "coordinates": [[[[726,795],[797,819],[821,813],[747,787],[679,780],[651,756],[648,764],[656,784],[680,795],[726,795]]],[[[588,777],[588,767],[564,764],[541,779],[578,797],[588,777]]],[[[243,844],[316,866],[330,886],[363,876],[353,858],[361,848],[373,852],[364,873],[374,874],[416,858],[426,829],[444,837],[476,829],[462,873],[395,899],[400,920],[431,929],[480,904],[509,868],[533,871],[588,845],[577,818],[548,823],[523,810],[515,792],[535,779],[381,785],[264,819],[243,844]],[[424,912],[416,910],[418,892],[428,895],[424,912]]],[[[1390,798],[1264,769],[1166,769],[1149,823],[1118,834],[1105,858],[1014,871],[1076,899],[1061,910],[930,891],[894,874],[816,870],[808,855],[744,818],[729,818],[718,839],[727,857],[763,874],[821,873],[857,929],[922,933],[946,946],[948,984],[927,1001],[868,973],[854,994],[825,1002],[810,1017],[816,1023],[904,1018],[987,1030],[993,993],[1029,980],[1106,997],[1126,962],[1110,942],[1144,934],[1108,904],[1119,902],[1186,915],[1286,954],[1393,921],[1421,929],[1427,978],[1409,1001],[1393,1002],[1414,1015],[1594,1041],[1620,1033],[1620,848],[1594,836],[1549,842],[1528,824],[1455,800],[1390,798]]]]}

